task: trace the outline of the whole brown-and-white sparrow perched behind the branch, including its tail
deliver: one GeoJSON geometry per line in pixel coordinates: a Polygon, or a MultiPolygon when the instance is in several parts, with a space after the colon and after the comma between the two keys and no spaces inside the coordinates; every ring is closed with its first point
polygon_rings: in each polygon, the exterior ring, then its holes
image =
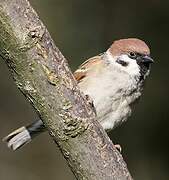
{"type": "MultiPolygon", "coordinates": [[[[153,62],[144,41],[120,39],[114,41],[105,53],[88,59],[74,72],[80,90],[92,99],[97,120],[106,131],[119,126],[131,115],[153,62]]],[[[37,120],[3,140],[9,148],[16,150],[44,131],[43,122],[37,120]]]]}

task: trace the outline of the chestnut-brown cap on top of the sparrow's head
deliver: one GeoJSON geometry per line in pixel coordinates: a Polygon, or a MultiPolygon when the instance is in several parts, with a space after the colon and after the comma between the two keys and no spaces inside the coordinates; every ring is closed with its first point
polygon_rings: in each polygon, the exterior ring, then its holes
{"type": "Polygon", "coordinates": [[[137,38],[120,39],[114,41],[109,48],[109,52],[113,56],[118,56],[120,54],[135,52],[144,55],[150,55],[150,49],[147,44],[137,38]]]}

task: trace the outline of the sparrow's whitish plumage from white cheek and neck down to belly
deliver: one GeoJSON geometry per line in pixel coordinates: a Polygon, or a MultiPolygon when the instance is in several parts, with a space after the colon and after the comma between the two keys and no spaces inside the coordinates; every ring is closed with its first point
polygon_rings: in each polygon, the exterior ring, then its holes
{"type": "Polygon", "coordinates": [[[124,70],[126,67],[117,64],[109,53],[105,54],[103,61],[105,66],[100,71],[90,71],[79,86],[93,99],[97,119],[103,128],[111,130],[126,121],[131,114],[130,105],[141,95],[137,78],[139,69],[132,60],[124,70]]]}

